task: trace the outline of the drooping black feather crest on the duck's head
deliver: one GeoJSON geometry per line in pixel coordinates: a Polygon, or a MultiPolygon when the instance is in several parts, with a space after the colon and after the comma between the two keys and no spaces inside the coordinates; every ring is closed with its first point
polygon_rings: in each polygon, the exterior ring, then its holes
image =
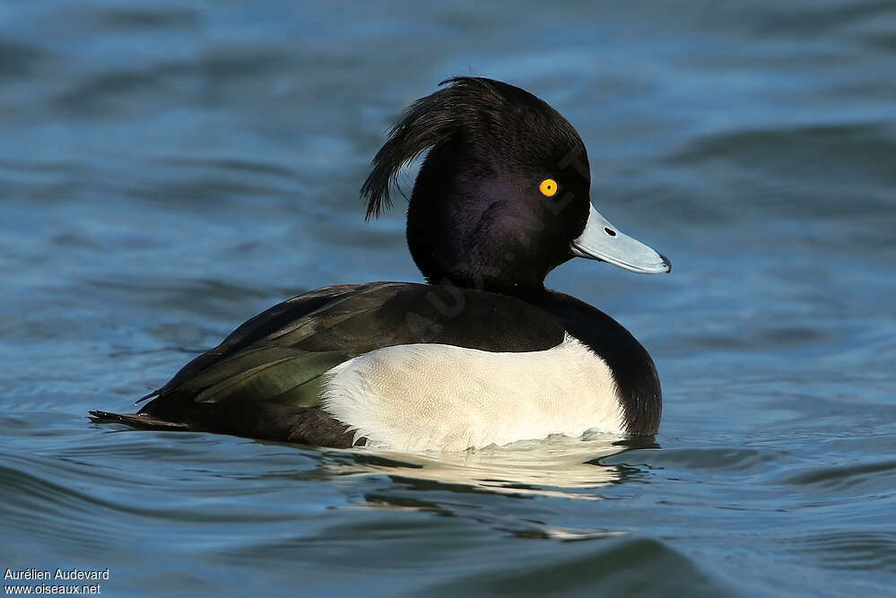
{"type": "Polygon", "coordinates": [[[496,124],[515,117],[521,119],[524,111],[560,117],[544,101],[508,83],[481,77],[454,77],[439,85],[446,83],[447,87],[416,100],[405,109],[373,158],[373,170],[361,186],[368,219],[392,207],[390,190],[392,186],[397,187],[401,169],[423,152],[458,134],[476,137],[479,133],[484,139],[496,141],[491,135],[500,133],[492,130],[496,124]]]}

